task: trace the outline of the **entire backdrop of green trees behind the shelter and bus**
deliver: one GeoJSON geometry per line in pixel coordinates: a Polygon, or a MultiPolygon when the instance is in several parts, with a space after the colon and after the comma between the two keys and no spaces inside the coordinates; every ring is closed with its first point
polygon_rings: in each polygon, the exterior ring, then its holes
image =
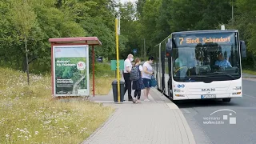
{"type": "Polygon", "coordinates": [[[15,69],[24,65],[24,35],[30,67],[37,73],[50,70],[49,38],[96,36],[102,46],[95,47],[95,58],[116,59],[114,19],[118,14],[119,58],[126,58],[135,48],[136,57],[144,58],[174,31],[213,30],[225,24],[239,30],[246,41],[248,58],[243,65],[256,63],[254,0],[138,0],[123,4],[114,0],[2,0],[0,14],[0,66],[15,69]]]}

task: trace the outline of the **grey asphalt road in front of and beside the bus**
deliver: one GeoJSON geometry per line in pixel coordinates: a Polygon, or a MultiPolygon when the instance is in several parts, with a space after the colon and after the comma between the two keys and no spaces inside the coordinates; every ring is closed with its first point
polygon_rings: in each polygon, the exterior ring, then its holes
{"type": "Polygon", "coordinates": [[[175,102],[182,110],[198,144],[256,143],[256,79],[243,79],[242,86],[243,97],[232,98],[230,102],[175,102]]]}

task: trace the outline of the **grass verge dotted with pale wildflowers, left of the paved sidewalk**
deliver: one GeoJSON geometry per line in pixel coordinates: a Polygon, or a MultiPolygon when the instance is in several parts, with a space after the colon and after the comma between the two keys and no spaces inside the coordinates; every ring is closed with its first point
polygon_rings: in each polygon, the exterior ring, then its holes
{"type": "MultiPolygon", "coordinates": [[[[79,143],[114,109],[93,102],[51,99],[50,75],[0,68],[0,142],[79,143]]],[[[97,86],[97,85],[96,85],[97,86]]]]}

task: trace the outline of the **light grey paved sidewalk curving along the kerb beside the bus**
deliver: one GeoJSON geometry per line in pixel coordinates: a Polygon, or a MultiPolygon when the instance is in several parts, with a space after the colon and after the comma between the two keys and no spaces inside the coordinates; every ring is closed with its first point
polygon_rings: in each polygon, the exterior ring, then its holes
{"type": "Polygon", "coordinates": [[[150,102],[143,101],[142,93],[142,103],[114,104],[111,90],[107,96],[95,96],[91,100],[117,109],[83,144],[195,143],[181,110],[156,89],[150,90],[150,102]]]}

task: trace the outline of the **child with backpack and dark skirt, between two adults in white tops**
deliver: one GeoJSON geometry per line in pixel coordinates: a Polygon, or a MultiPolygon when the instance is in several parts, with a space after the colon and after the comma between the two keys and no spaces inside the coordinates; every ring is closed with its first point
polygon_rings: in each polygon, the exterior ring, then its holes
{"type": "Polygon", "coordinates": [[[134,91],[134,103],[140,103],[140,98],[142,94],[142,90],[145,88],[144,83],[142,81],[142,66],[140,65],[141,60],[139,58],[135,59],[134,66],[137,66],[139,79],[137,81],[133,81],[133,90],[134,91]],[[138,100],[136,100],[136,97],[138,96],[138,100]]]}

